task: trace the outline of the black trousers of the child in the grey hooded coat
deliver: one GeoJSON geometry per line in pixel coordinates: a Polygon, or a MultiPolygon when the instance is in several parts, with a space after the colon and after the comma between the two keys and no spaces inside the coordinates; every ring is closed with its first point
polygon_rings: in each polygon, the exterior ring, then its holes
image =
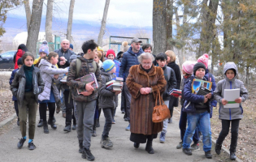
{"type": "Polygon", "coordinates": [[[237,145],[237,138],[238,138],[238,128],[239,128],[239,122],[240,119],[236,120],[221,120],[222,123],[222,130],[219,134],[219,138],[217,139],[217,142],[219,145],[223,143],[223,140],[228,135],[229,126],[231,123],[231,144],[229,151],[236,152],[236,145],[237,145]]]}

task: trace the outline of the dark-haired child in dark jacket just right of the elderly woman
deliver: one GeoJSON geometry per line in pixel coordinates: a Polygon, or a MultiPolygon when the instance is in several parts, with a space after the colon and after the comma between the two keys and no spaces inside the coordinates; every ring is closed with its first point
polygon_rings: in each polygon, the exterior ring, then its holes
{"type": "MultiPolygon", "coordinates": [[[[176,76],[175,76],[174,70],[172,70],[171,67],[167,66],[167,54],[158,53],[155,60],[158,63],[158,66],[163,69],[164,78],[167,81],[167,87],[165,87],[165,91],[163,92],[163,101],[164,101],[164,104],[166,104],[168,107],[169,101],[171,100],[171,96],[169,92],[171,92],[171,90],[177,86],[176,76]]],[[[165,142],[165,134],[167,133],[167,126],[168,126],[168,119],[165,119],[163,121],[163,130],[160,134],[160,143],[165,142]]]]}

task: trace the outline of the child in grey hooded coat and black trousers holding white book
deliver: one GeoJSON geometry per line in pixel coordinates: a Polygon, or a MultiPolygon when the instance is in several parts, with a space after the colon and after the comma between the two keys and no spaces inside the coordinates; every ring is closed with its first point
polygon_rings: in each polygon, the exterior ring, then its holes
{"type": "Polygon", "coordinates": [[[248,98],[248,91],[245,88],[244,83],[236,79],[237,67],[234,62],[227,62],[223,68],[223,74],[225,75],[225,79],[220,80],[217,83],[217,87],[215,89],[214,95],[215,100],[219,102],[219,119],[222,121],[222,130],[219,133],[219,138],[216,141],[215,151],[219,155],[223,140],[228,135],[229,126],[231,124],[231,144],[230,144],[230,159],[236,160],[236,145],[238,138],[238,129],[239,122],[243,117],[243,109],[241,107],[241,102],[244,102],[248,98]],[[240,88],[240,96],[235,100],[236,103],[239,103],[240,106],[237,108],[226,109],[223,108],[223,105],[228,104],[228,101],[223,98],[225,89],[236,89],[240,88]]]}

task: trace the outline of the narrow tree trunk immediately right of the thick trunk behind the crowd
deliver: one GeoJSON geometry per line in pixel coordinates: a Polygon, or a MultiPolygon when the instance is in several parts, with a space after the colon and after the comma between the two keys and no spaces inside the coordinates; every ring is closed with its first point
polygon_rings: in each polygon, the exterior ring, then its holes
{"type": "Polygon", "coordinates": [[[173,45],[171,45],[172,40],[172,17],[173,17],[173,0],[167,0],[167,11],[166,11],[166,19],[167,19],[167,47],[168,50],[173,50],[173,45]]]}

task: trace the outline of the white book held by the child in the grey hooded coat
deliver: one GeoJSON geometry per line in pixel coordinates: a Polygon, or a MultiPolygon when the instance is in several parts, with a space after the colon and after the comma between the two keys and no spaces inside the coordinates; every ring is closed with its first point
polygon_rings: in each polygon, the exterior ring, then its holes
{"type": "Polygon", "coordinates": [[[240,97],[240,88],[224,89],[224,99],[228,100],[228,104],[223,105],[224,108],[239,108],[239,103],[235,100],[240,97]]]}

